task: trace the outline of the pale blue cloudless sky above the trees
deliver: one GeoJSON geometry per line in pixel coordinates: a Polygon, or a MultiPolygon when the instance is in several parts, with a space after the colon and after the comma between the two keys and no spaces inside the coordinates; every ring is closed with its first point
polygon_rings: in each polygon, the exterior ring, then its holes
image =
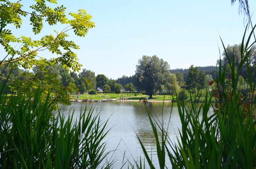
{"type": "MultiPolygon", "coordinates": [[[[85,38],[78,38],[71,31],[70,39],[80,46],[76,53],[83,68],[112,79],[133,75],[142,55],[157,55],[171,69],[188,68],[191,64],[215,65],[218,45],[223,51],[219,35],[226,46],[233,45],[241,42],[245,29],[244,16],[238,13],[238,0],[234,6],[230,0],[59,0],[58,3],[63,3],[67,12],[85,9],[93,16],[96,27],[85,38]]],[[[256,2],[249,1],[249,6],[253,12],[256,2]]],[[[255,24],[255,17],[252,20],[255,24]]],[[[24,21],[23,27],[27,29],[28,24],[24,21]]],[[[41,34],[53,30],[60,31],[61,26],[45,27],[41,34]]]]}

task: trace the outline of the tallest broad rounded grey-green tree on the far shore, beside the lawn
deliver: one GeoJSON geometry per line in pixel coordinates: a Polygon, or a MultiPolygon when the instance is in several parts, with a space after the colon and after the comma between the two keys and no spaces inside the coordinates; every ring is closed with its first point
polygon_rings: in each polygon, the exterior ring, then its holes
{"type": "Polygon", "coordinates": [[[156,55],[151,57],[144,55],[136,65],[136,85],[152,98],[153,94],[161,90],[161,85],[165,84],[169,69],[169,64],[156,55]]]}

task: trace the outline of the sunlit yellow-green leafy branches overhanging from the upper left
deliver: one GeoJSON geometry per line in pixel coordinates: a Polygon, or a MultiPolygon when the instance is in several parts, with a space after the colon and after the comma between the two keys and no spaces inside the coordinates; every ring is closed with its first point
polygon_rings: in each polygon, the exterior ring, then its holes
{"type": "Polygon", "coordinates": [[[36,65],[45,74],[44,79],[38,80],[37,76],[22,82],[9,79],[12,86],[17,83],[17,85],[23,86],[20,87],[20,92],[30,94],[35,92],[40,83],[45,94],[54,89],[56,90],[55,100],[63,101],[68,98],[65,96],[65,90],[67,90],[69,82],[65,81],[63,86],[51,82],[51,73],[47,67],[61,64],[68,72],[80,70],[81,64],[78,63],[77,55],[73,52],[79,49],[79,46],[67,39],[67,32],[71,31],[77,36],[85,36],[89,29],[95,27],[91,21],[92,16],[83,9],[78,13],[70,12],[70,16],[67,16],[66,8],[63,5],[58,6],[56,0],[29,1],[28,3],[31,4],[26,3],[26,7],[23,7],[22,2],[20,0],[17,2],[1,0],[0,44],[6,50],[4,55],[7,61],[1,62],[0,66],[10,64],[12,67],[20,66],[29,70],[36,65]],[[26,34],[22,35],[23,31],[13,32],[14,29],[21,30],[23,20],[30,22],[31,31],[35,34],[32,37],[26,36],[26,34]],[[42,35],[44,25],[49,25],[53,33],[42,35]],[[61,27],[63,28],[59,29],[61,27]],[[50,59],[45,57],[47,51],[51,53],[50,59]]]}

